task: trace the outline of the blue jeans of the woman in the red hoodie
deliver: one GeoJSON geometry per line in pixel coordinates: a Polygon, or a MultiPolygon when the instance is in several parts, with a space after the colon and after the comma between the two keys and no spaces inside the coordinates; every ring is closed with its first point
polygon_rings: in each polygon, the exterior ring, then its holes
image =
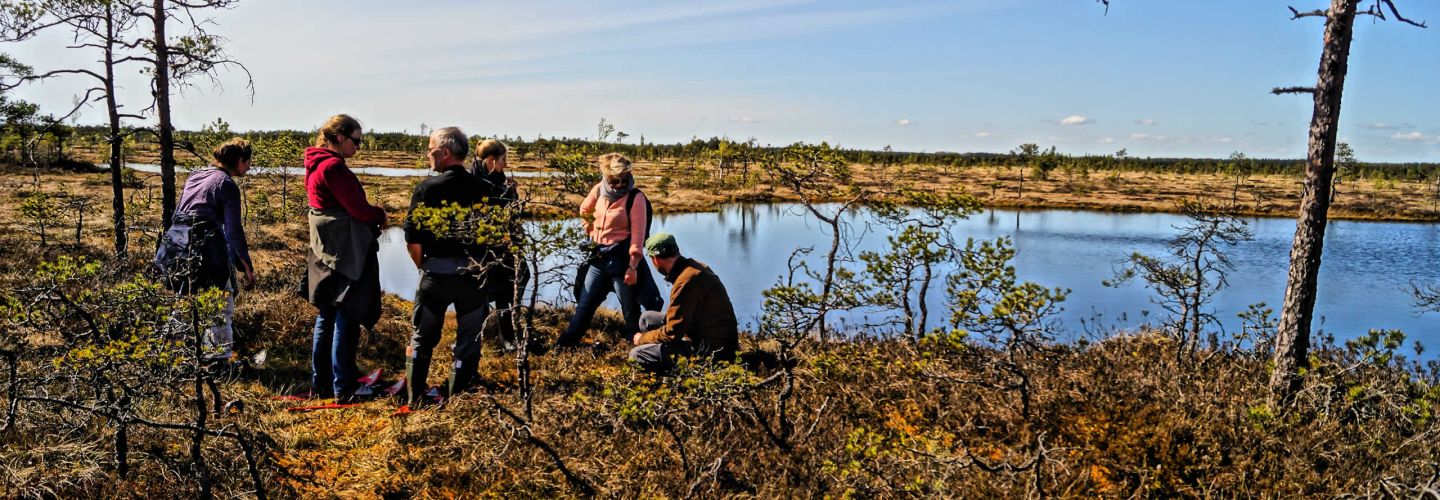
{"type": "Polygon", "coordinates": [[[320,307],[310,365],[310,386],[318,396],[347,396],[360,386],[356,349],[360,324],[337,307],[320,307]]]}

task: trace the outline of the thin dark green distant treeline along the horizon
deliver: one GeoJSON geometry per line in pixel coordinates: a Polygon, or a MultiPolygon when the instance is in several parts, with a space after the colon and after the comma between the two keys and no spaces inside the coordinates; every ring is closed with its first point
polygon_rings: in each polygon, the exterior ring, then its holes
{"type": "MultiPolygon", "coordinates": [[[[426,148],[428,131],[425,134],[410,133],[367,133],[364,150],[403,151],[423,154],[426,148]]],[[[98,144],[102,141],[105,130],[101,127],[75,127],[73,141],[76,144],[98,144]]],[[[200,131],[179,131],[176,137],[190,144],[215,143],[216,134],[232,135],[223,121],[216,125],[206,125],[200,131]]],[[[289,143],[297,147],[308,146],[314,141],[314,131],[274,130],[239,133],[251,140],[268,143],[289,143]]],[[[488,135],[475,135],[474,140],[488,135]]],[[[641,135],[632,143],[596,141],[589,138],[570,137],[500,137],[510,146],[511,154],[517,160],[549,160],[552,156],[579,153],[592,157],[600,153],[619,151],[629,157],[647,161],[683,161],[683,163],[726,163],[726,164],[756,164],[773,157],[785,146],[759,144],[755,138],[736,141],[730,138],[693,138],[688,143],[647,143],[641,135]]],[[[143,141],[143,140],[141,140],[143,141]]],[[[788,144],[786,144],[788,146],[788,144]]],[[[1156,171],[1156,173],[1204,173],[1204,174],[1303,174],[1305,161],[1300,159],[1250,159],[1236,154],[1230,159],[1151,159],[1130,157],[1125,151],[1116,154],[1084,154],[1070,156],[1064,153],[1024,154],[1024,148],[1012,153],[913,153],[887,150],[857,150],[838,147],[838,151],[852,163],[876,166],[943,166],[943,167],[1034,167],[1037,161],[1048,163],[1045,170],[1087,171],[1087,170],[1126,170],[1126,171],[1156,171]],[[1047,154],[1050,154],[1047,157],[1047,154]]],[[[1034,151],[1035,148],[1031,148],[1034,151]]],[[[1341,176],[1359,179],[1385,180],[1437,180],[1440,179],[1440,163],[1367,163],[1341,161],[1341,176]]]]}

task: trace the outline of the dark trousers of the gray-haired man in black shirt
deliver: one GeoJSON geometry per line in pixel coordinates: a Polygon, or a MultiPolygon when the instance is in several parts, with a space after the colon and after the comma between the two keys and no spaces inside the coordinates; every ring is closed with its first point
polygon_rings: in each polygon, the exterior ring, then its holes
{"type": "Polygon", "coordinates": [[[431,356],[441,341],[445,327],[445,311],[455,305],[455,354],[449,378],[449,393],[469,388],[478,375],[480,330],[490,316],[487,294],[480,281],[458,274],[435,274],[425,271],[415,291],[415,333],[406,349],[405,380],[410,402],[419,402],[429,388],[431,356]]]}

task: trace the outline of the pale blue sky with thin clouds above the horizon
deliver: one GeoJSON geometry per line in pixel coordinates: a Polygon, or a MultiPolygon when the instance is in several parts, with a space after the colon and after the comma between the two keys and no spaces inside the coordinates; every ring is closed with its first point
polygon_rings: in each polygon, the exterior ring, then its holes
{"type": "MultiPolygon", "coordinates": [[[[1369,0],[1365,0],[1368,4],[1369,0]]],[[[1356,23],[1341,141],[1362,161],[1440,161],[1440,1],[1418,29],[1356,23]]],[[[242,0],[210,30],[226,71],[174,98],[180,128],[459,125],[472,135],[1004,153],[1022,143],[1132,157],[1305,156],[1322,0],[242,0]]],[[[176,30],[174,27],[171,30],[176,30]]],[[[0,45],[36,69],[94,65],[59,33],[0,45]]],[[[148,102],[140,66],[122,101],[148,102]]],[[[17,97],[62,110],[86,82],[17,97]]],[[[104,120],[86,110],[82,124],[104,120]]]]}

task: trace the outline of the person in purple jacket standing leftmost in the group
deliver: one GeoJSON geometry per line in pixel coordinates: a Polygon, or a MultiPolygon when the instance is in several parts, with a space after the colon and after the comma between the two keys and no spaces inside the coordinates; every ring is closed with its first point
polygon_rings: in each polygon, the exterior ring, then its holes
{"type": "Polygon", "coordinates": [[[251,170],[252,150],[251,143],[236,137],[210,154],[219,167],[196,170],[186,179],[174,222],[166,231],[156,261],[163,272],[171,274],[166,278],[173,281],[174,274],[183,269],[176,269],[171,264],[180,262],[181,256],[174,254],[167,256],[167,249],[176,254],[184,254],[187,246],[190,251],[200,251],[199,269],[190,269],[193,274],[183,278],[186,282],[173,288],[194,293],[199,288],[219,287],[228,293],[222,318],[206,330],[203,339],[206,359],[229,360],[235,356],[235,336],[230,326],[238,290],[235,272],[240,274],[239,284],[245,290],[255,285],[255,265],[251,262],[245,226],[240,222],[240,187],[233,179],[251,170]],[[170,268],[166,268],[167,265],[170,268]]]}

